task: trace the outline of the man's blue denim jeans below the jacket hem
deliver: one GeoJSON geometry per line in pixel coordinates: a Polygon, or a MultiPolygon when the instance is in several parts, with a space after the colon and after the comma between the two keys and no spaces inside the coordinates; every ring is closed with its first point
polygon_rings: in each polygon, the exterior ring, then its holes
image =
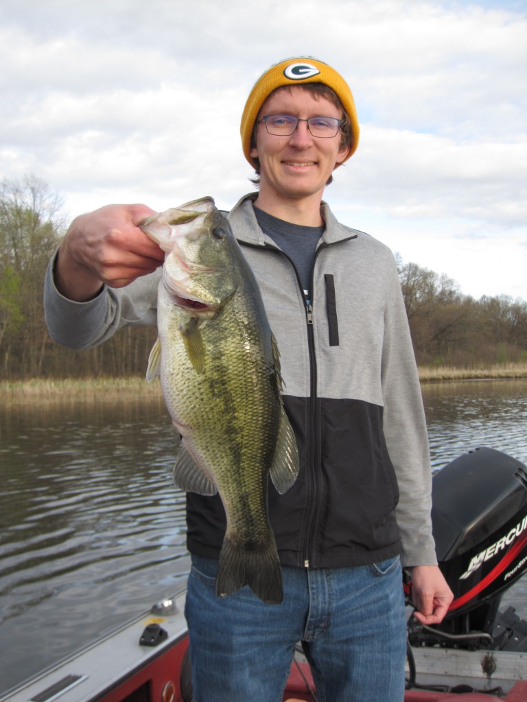
{"type": "Polygon", "coordinates": [[[406,625],[398,557],[356,568],[282,567],[284,600],[217,597],[217,562],[193,557],[186,618],[195,702],[281,702],[304,642],[319,702],[402,702],[406,625]]]}

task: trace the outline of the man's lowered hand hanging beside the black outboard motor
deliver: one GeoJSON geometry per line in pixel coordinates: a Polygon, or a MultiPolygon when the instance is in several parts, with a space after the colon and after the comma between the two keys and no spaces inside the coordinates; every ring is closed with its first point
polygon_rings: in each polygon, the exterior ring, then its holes
{"type": "Polygon", "coordinates": [[[440,623],[454,595],[438,566],[415,566],[411,578],[415,618],[422,624],[440,623]]]}

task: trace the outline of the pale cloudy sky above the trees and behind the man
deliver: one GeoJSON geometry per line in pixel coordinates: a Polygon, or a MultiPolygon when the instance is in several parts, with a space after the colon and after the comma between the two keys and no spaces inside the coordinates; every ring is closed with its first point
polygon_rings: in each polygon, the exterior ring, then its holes
{"type": "Polygon", "coordinates": [[[254,187],[240,117],[294,56],[329,63],[360,143],[324,199],[464,295],[527,300],[527,1],[1,0],[0,180],[65,217],[254,187]]]}

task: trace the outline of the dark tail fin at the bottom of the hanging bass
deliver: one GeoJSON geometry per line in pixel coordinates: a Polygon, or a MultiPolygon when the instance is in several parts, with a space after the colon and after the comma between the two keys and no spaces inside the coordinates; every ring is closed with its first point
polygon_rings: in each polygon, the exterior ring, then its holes
{"type": "Polygon", "coordinates": [[[248,549],[242,541],[225,537],[216,576],[216,595],[227,597],[245,585],[267,604],[282,602],[282,570],[274,536],[248,549]]]}

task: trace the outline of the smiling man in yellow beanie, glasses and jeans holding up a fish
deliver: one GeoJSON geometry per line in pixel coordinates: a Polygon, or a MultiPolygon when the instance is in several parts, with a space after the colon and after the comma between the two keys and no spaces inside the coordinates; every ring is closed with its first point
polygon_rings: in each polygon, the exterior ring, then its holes
{"type": "MultiPolygon", "coordinates": [[[[346,82],[311,58],[266,71],[242,115],[259,192],[229,220],[278,340],[301,471],[285,495],[269,494],[280,605],[248,588],[216,596],[223,508],[219,498],[187,496],[199,702],[278,702],[299,640],[319,700],[401,702],[401,561],[420,621],[438,623],[452,601],[431,536],[427,432],[396,265],[321,202],[358,132],[346,82]]],[[[138,229],[150,214],[108,206],[72,222],[46,279],[53,338],[89,347],[126,324],[155,323],[164,255],[138,229]]]]}

